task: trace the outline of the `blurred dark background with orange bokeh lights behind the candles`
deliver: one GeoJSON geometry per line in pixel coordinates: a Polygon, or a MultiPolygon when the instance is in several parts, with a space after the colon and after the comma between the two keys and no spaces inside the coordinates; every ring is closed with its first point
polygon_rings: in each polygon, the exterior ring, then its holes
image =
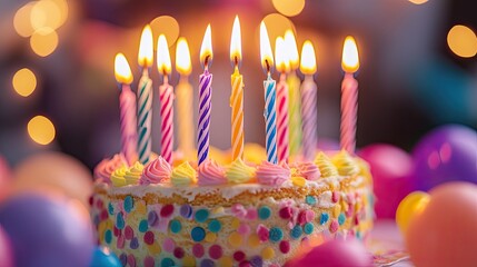
{"type": "MultiPolygon", "coordinates": [[[[345,37],[352,34],[361,63],[357,145],[387,142],[409,150],[436,126],[477,127],[476,8],[468,0],[2,0],[0,155],[14,166],[36,151],[59,150],[92,168],[118,152],[113,58],[126,55],[136,90],[146,23],[151,23],[156,40],[166,34],[172,65],[176,40],[188,39],[196,98],[203,71],[200,43],[211,23],[210,144],[228,149],[230,127],[223,126],[230,125],[229,42],[236,14],[242,33],[247,142],[265,144],[259,55],[259,23],[265,20],[270,40],[291,28],[299,49],[306,39],[315,44],[320,138],[339,137],[341,49],[345,37]]],[[[156,67],[151,77],[152,148],[159,151],[161,80],[156,67]]],[[[179,75],[173,71],[170,78],[177,85],[179,75]]],[[[197,99],[193,110],[197,116],[197,99]]]]}

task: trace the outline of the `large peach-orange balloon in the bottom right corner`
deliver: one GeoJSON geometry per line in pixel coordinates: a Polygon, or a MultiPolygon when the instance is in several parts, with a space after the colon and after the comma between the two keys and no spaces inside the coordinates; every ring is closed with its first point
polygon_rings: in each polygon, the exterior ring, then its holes
{"type": "Polygon", "coordinates": [[[448,182],[430,191],[430,200],[406,234],[416,266],[476,266],[477,186],[448,182]]]}

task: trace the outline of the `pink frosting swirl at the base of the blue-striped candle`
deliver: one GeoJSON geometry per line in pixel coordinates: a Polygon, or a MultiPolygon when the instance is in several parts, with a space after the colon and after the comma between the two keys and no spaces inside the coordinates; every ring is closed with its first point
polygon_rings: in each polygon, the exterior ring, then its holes
{"type": "Polygon", "coordinates": [[[257,179],[262,185],[280,186],[290,179],[290,168],[287,164],[274,165],[268,161],[257,167],[257,179]]]}

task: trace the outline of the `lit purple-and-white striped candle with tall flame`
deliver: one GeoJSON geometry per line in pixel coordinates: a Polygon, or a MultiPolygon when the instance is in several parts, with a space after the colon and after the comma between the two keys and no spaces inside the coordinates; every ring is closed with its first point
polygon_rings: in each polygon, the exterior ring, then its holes
{"type": "Polygon", "coordinates": [[[200,47],[200,62],[203,65],[203,73],[199,77],[198,165],[209,157],[210,111],[212,108],[212,75],[209,73],[209,63],[211,63],[212,57],[212,38],[210,24],[208,24],[200,47]]]}

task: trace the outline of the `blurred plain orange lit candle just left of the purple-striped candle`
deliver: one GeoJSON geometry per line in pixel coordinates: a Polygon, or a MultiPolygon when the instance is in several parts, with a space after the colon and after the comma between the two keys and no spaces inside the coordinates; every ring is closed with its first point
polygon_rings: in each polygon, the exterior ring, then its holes
{"type": "Polygon", "coordinates": [[[189,75],[192,71],[189,46],[186,38],[181,37],[176,47],[176,70],[180,73],[179,85],[176,88],[177,112],[179,127],[179,150],[189,156],[193,150],[193,112],[192,112],[192,86],[189,83],[189,75]]]}

